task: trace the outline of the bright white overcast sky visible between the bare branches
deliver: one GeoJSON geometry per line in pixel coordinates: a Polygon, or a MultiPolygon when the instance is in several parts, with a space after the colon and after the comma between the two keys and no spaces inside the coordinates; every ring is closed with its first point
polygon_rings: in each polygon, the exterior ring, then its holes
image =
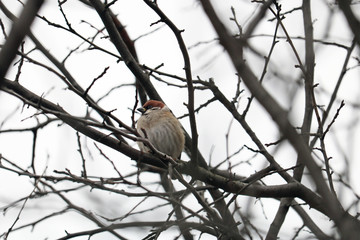
{"type": "MultiPolygon", "coordinates": [[[[6,6],[10,8],[13,13],[19,14],[18,9],[20,4],[13,0],[3,1],[6,6]]],[[[251,16],[254,14],[254,7],[256,6],[250,1],[218,1],[214,2],[216,5],[217,13],[221,15],[222,20],[236,32],[236,26],[229,20],[231,16],[230,6],[234,6],[239,23],[246,29],[251,16]]],[[[280,1],[282,4],[283,12],[290,10],[294,7],[301,6],[301,1],[280,1]]],[[[191,0],[159,0],[158,4],[160,8],[167,14],[167,16],[177,25],[179,29],[185,29],[183,37],[187,46],[192,46],[198,42],[209,41],[215,38],[215,33],[209,25],[206,16],[196,1],[191,0]]],[[[324,36],[324,27],[328,24],[327,16],[329,12],[325,7],[326,1],[313,1],[312,5],[312,18],[314,20],[314,36],[315,38],[322,38],[324,36]]],[[[74,29],[86,36],[94,34],[94,30],[89,27],[88,24],[81,23],[81,19],[86,19],[91,22],[92,25],[100,28],[102,26],[99,16],[90,8],[84,6],[77,1],[69,0],[63,5],[66,15],[69,21],[72,23],[74,29]],[[89,34],[90,32],[90,34],[89,34]]],[[[157,15],[140,0],[119,0],[111,7],[112,11],[119,14],[119,19],[126,26],[126,29],[131,38],[137,38],[144,33],[148,33],[155,28],[158,28],[162,24],[157,24],[153,27],[150,23],[158,20],[157,15]]],[[[63,24],[63,17],[58,10],[56,1],[47,1],[47,3],[41,9],[39,15],[46,16],[50,21],[63,24]]],[[[7,18],[0,14],[1,20],[5,24],[7,32],[10,30],[9,22],[7,18]]],[[[329,42],[338,42],[346,46],[351,43],[351,36],[349,34],[347,24],[339,12],[335,13],[335,20],[333,20],[333,26],[328,33],[329,42]]],[[[297,37],[303,36],[302,26],[302,13],[301,11],[294,12],[286,17],[283,21],[290,36],[297,37]]],[[[275,23],[263,21],[256,29],[256,34],[270,34],[274,32],[275,23]]],[[[37,19],[36,23],[32,27],[35,36],[46,46],[49,51],[57,57],[58,60],[62,60],[68,53],[69,49],[73,49],[79,45],[82,41],[79,38],[74,37],[70,33],[66,33],[62,30],[55,29],[48,26],[42,20],[37,19]]],[[[106,33],[105,33],[106,34],[106,33]]],[[[280,31],[279,35],[283,36],[283,32],[280,31]]],[[[2,36],[2,35],[1,35],[2,36]]],[[[3,41],[3,37],[1,37],[3,41]]],[[[106,47],[108,50],[116,53],[115,48],[108,42],[108,39],[98,39],[98,44],[102,47],[106,47]]],[[[304,42],[301,40],[294,40],[296,48],[300,53],[302,60],[304,59],[304,42]]],[[[263,55],[267,55],[268,49],[271,44],[271,37],[259,37],[251,40],[251,44],[259,50],[263,55]]],[[[163,26],[159,31],[142,37],[136,41],[136,49],[142,64],[149,67],[156,67],[164,63],[162,71],[184,76],[183,61],[180,50],[178,49],[175,37],[170,30],[163,26]]],[[[30,50],[33,47],[31,41],[27,39],[25,50],[30,50]]],[[[315,68],[315,83],[319,83],[319,89],[324,89],[325,93],[319,93],[318,104],[327,104],[329,101],[330,93],[333,91],[335,83],[340,75],[341,67],[344,61],[346,51],[334,46],[326,46],[316,44],[316,68],[315,68]]],[[[89,94],[97,99],[103,96],[113,86],[132,83],[134,81],[133,76],[129,70],[124,67],[122,62],[116,63],[116,59],[109,57],[98,51],[81,52],[82,47],[78,52],[74,53],[66,62],[66,67],[73,74],[73,76],[81,83],[83,88],[86,88],[91,81],[98,76],[105,67],[110,66],[108,73],[101,79],[101,82],[96,82],[89,94]]],[[[230,99],[235,93],[236,76],[233,67],[231,66],[227,55],[223,52],[221,47],[215,46],[215,43],[202,44],[196,48],[189,50],[193,77],[199,76],[205,80],[213,77],[219,88],[227,94],[230,99]]],[[[358,54],[358,50],[355,49],[354,53],[358,54]]],[[[249,51],[246,51],[246,57],[249,65],[257,76],[260,76],[264,60],[260,57],[255,57],[249,51]]],[[[43,59],[40,53],[35,53],[33,57],[43,59]]],[[[289,108],[289,96],[292,87],[295,87],[296,79],[299,79],[300,71],[294,68],[296,63],[295,56],[291,51],[288,43],[285,40],[280,40],[275,47],[272,61],[269,65],[270,69],[279,69],[281,71],[280,77],[275,76],[269,70],[269,74],[265,78],[265,85],[269,91],[276,97],[276,99],[284,106],[289,108]],[[281,79],[283,76],[285,79],[281,79]],[[290,84],[289,84],[290,82],[290,84]]],[[[356,66],[356,61],[351,60],[349,66],[356,66]]],[[[17,66],[15,66],[7,75],[7,78],[13,79],[16,74],[17,66]]],[[[53,74],[40,69],[32,64],[25,64],[22,69],[22,75],[20,82],[28,87],[38,95],[45,94],[45,98],[51,100],[54,103],[59,103],[64,109],[75,115],[82,116],[85,113],[86,106],[84,103],[70,91],[64,90],[65,85],[59,84],[59,79],[53,74]],[[51,89],[51,90],[50,90],[51,89]]],[[[186,113],[186,107],[183,102],[187,102],[187,90],[186,88],[178,89],[174,87],[168,87],[163,83],[154,82],[160,95],[163,97],[167,105],[173,110],[175,115],[181,116],[186,113]]],[[[244,86],[242,86],[244,87],[244,86]]],[[[357,170],[360,168],[358,158],[357,146],[359,146],[359,125],[358,122],[354,122],[359,117],[357,108],[353,105],[359,105],[359,71],[357,68],[349,71],[343,80],[343,84],[338,94],[338,99],[344,99],[346,106],[341,111],[339,118],[336,121],[337,131],[332,131],[330,134],[332,138],[327,142],[328,154],[333,157],[332,163],[337,171],[343,170],[343,158],[346,156],[351,164],[350,172],[350,184],[355,187],[357,193],[360,192],[360,187],[354,184],[358,181],[357,170]],[[352,131],[349,134],[347,131],[349,128],[352,131]],[[342,146],[342,152],[339,151],[336,144],[342,146]],[[339,164],[336,164],[339,163],[339,164]]],[[[134,105],[134,89],[132,87],[124,87],[117,91],[114,91],[108,98],[101,102],[100,106],[107,110],[117,109],[114,114],[118,116],[122,121],[131,124],[131,111],[134,105]]],[[[204,103],[207,99],[212,97],[209,91],[201,91],[196,93],[196,106],[204,103]]],[[[247,103],[248,92],[245,90],[243,97],[240,100],[240,109],[247,103]]],[[[299,126],[302,122],[303,111],[303,96],[301,93],[297,93],[295,97],[295,103],[292,106],[291,119],[294,124],[299,126]],[[300,112],[299,112],[300,111],[300,112]]],[[[334,111],[330,114],[331,117],[335,114],[336,108],[339,106],[339,102],[335,103],[334,111]]],[[[11,120],[7,121],[2,129],[8,128],[23,128],[25,126],[33,126],[36,121],[34,118],[30,118],[34,111],[31,108],[24,107],[22,109],[21,103],[13,97],[10,97],[6,93],[0,93],[0,123],[6,116],[9,115],[16,107],[20,107],[16,114],[11,116],[11,120]]],[[[95,114],[93,114],[95,116],[95,114]]],[[[42,117],[39,117],[43,119],[42,117]]],[[[315,119],[315,118],[314,118],[315,119]]],[[[209,159],[211,155],[213,165],[221,162],[226,158],[226,141],[225,134],[229,127],[231,116],[224,108],[214,103],[209,105],[206,109],[203,109],[200,114],[197,115],[198,132],[199,132],[199,148],[206,159],[209,159]]],[[[256,105],[252,106],[252,110],[249,112],[247,121],[258,137],[263,143],[274,142],[278,140],[278,132],[271,119],[264,113],[261,107],[256,105]]],[[[188,118],[181,119],[181,123],[190,132],[188,118]]],[[[315,122],[314,122],[315,123],[315,122]]],[[[314,128],[315,129],[315,128],[314,128]]],[[[95,155],[87,157],[88,171],[94,175],[111,176],[112,172],[109,163],[101,157],[97,156],[96,149],[94,148],[93,141],[86,140],[81,136],[83,144],[91,149],[95,155]]],[[[51,173],[54,169],[64,170],[65,168],[71,169],[72,172],[80,174],[81,171],[81,159],[79,157],[76,143],[76,134],[69,127],[62,125],[58,126],[58,123],[52,123],[50,127],[40,130],[38,133],[37,152],[36,152],[36,164],[38,172],[42,172],[46,169],[46,173],[51,173]]],[[[231,133],[229,136],[229,152],[233,153],[237,151],[241,146],[247,144],[249,147],[255,148],[256,146],[251,143],[249,137],[241,129],[241,127],[234,122],[232,124],[231,133]]],[[[30,133],[21,134],[0,134],[0,153],[11,160],[23,166],[28,167],[31,159],[31,144],[32,135],[30,133]]],[[[119,153],[101,146],[101,148],[113,159],[116,159],[119,168],[124,172],[133,170],[130,168],[134,165],[134,162],[126,157],[123,157],[119,153]],[[121,167],[120,167],[121,166],[121,167]]],[[[275,151],[275,147],[269,148],[270,152],[275,151]]],[[[295,162],[295,154],[287,144],[282,145],[276,153],[276,159],[282,164],[284,168],[293,166],[295,162]]],[[[185,154],[183,154],[184,156],[185,154]]],[[[246,160],[253,155],[252,152],[244,150],[242,151],[234,162],[246,160]]],[[[186,160],[186,156],[184,157],[186,160]]],[[[236,168],[236,172],[240,175],[249,176],[256,170],[260,170],[264,166],[264,160],[261,156],[258,156],[256,160],[251,162],[252,165],[241,164],[236,168]]],[[[226,168],[225,165],[223,168],[226,168]]],[[[142,176],[144,181],[147,178],[153,177],[153,175],[142,176]]],[[[269,177],[265,179],[267,184],[278,184],[283,181],[278,177],[269,177]]],[[[306,180],[305,180],[306,182],[306,180]]],[[[6,205],[18,198],[25,197],[32,191],[32,185],[29,179],[25,177],[18,177],[15,174],[11,174],[0,170],[0,206],[6,205]]],[[[136,191],[136,189],[132,189],[136,191]]],[[[98,192],[97,194],[89,194],[88,191],[84,191],[83,196],[75,196],[77,203],[82,206],[93,206],[94,211],[107,216],[119,216],[126,213],[131,209],[139,200],[126,199],[119,196],[110,196],[107,193],[98,192]],[[86,196],[86,197],[84,197],[86,196]],[[95,197],[96,196],[96,197],[95,197]],[[106,207],[108,206],[108,207],[106,207]]],[[[347,193],[345,196],[351,196],[351,193],[347,193]]],[[[240,197],[241,198],[241,197],[240,197]]],[[[24,211],[21,215],[20,221],[17,223],[22,225],[32,219],[32,215],[37,213],[51,212],[53,209],[62,209],[63,205],[59,205],[57,202],[49,201],[51,198],[46,198],[41,201],[29,201],[27,207],[30,210],[24,211]]],[[[245,199],[245,198],[244,198],[245,199]]],[[[346,199],[346,198],[345,198],[346,199]]],[[[350,199],[350,198],[349,198],[350,199]]],[[[244,201],[246,202],[246,201],[244,201]]],[[[346,202],[346,200],[344,201],[346,202]]],[[[264,215],[261,212],[260,203],[252,203],[250,207],[256,207],[258,215],[254,223],[259,223],[264,226],[264,231],[269,227],[269,224],[273,220],[274,213],[277,210],[278,202],[273,200],[263,200],[265,214],[267,219],[264,219],[264,215]]],[[[245,206],[244,206],[245,207],[245,206]]],[[[91,207],[89,207],[91,208],[91,207]]],[[[144,206],[145,208],[145,206],[144,206]]],[[[194,208],[198,206],[194,203],[194,208]]],[[[0,232],[5,232],[15,220],[19,208],[13,208],[8,211],[5,216],[1,216],[0,232]]],[[[167,210],[164,209],[164,219],[167,217],[167,210]]],[[[317,220],[324,225],[324,228],[329,229],[331,225],[328,219],[318,214],[315,211],[311,212],[312,216],[317,216],[317,220]]],[[[140,216],[136,216],[140,218],[140,216]]],[[[298,221],[296,214],[290,213],[289,218],[293,218],[294,221],[298,221]]],[[[73,216],[67,214],[66,216],[56,217],[47,222],[48,224],[39,224],[35,227],[34,232],[31,233],[30,228],[26,228],[23,231],[15,232],[10,235],[9,239],[56,239],[64,235],[64,229],[68,232],[79,231],[81,228],[84,230],[93,228],[92,224],[88,224],[87,220],[84,220],[78,214],[73,216]],[[59,227],[61,225],[61,227],[59,227]]],[[[134,232],[135,237],[144,237],[148,229],[144,230],[144,233],[134,232]]],[[[283,228],[282,236],[284,239],[289,237],[287,233],[293,233],[292,221],[287,221],[283,228]],[[284,229],[289,229],[286,231],[284,229]]],[[[169,235],[171,232],[168,231],[169,235]]],[[[91,239],[103,239],[104,235],[93,236],[91,239]]],[[[108,236],[107,236],[108,237],[108,236]]],[[[166,234],[161,235],[160,239],[167,239],[166,234]]],[[[77,238],[86,239],[86,238],[77,238]]],[[[111,239],[110,237],[108,239],[111,239]]]]}

